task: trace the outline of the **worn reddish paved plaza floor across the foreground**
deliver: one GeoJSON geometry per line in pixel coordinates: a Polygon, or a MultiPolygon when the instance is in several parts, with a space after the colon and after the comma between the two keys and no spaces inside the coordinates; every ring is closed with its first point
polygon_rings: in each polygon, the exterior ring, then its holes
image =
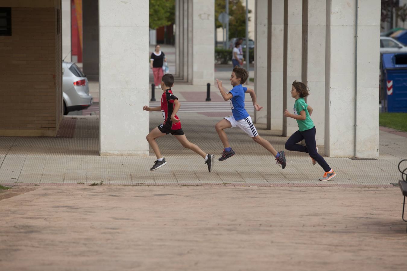
{"type": "Polygon", "coordinates": [[[395,188],[18,186],[0,270],[405,270],[401,207],[395,188]]]}

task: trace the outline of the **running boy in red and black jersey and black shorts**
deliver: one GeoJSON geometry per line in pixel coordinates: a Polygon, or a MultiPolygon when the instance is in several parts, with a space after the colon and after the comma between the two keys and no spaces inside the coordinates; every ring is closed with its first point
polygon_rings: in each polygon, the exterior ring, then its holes
{"type": "Polygon", "coordinates": [[[156,138],[162,137],[166,134],[172,134],[175,138],[182,144],[183,147],[193,150],[205,159],[205,164],[208,165],[208,171],[212,171],[213,167],[213,154],[206,154],[197,145],[190,143],[181,128],[181,121],[176,115],[181,103],[178,98],[174,96],[171,91],[171,87],[174,85],[174,76],[172,74],[164,74],[161,79],[161,106],[149,107],[147,105],[143,106],[145,111],[161,111],[162,117],[164,118],[164,123],[158,127],[151,130],[147,135],[147,141],[150,143],[157,160],[154,162],[153,167],[150,170],[159,169],[160,167],[166,165],[165,158],[162,157],[158,144],[155,141],[156,138]]]}

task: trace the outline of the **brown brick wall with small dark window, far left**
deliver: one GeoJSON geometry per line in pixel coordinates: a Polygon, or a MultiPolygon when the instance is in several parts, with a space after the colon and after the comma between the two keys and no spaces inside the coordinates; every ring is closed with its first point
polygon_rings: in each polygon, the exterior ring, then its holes
{"type": "Polygon", "coordinates": [[[62,35],[61,30],[57,34],[60,2],[55,5],[11,7],[12,36],[0,36],[0,135],[57,133],[62,119],[62,35]]]}

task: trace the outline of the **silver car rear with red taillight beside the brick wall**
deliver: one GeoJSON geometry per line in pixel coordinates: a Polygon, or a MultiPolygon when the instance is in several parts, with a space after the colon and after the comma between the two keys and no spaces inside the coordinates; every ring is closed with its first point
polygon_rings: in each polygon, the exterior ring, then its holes
{"type": "Polygon", "coordinates": [[[92,105],[88,78],[75,63],[62,62],[63,115],[92,105]]]}

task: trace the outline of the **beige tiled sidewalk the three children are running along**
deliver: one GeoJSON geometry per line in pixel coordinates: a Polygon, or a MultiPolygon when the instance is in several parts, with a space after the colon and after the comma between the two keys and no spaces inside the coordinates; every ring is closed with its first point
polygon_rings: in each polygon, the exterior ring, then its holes
{"type": "MultiPolygon", "coordinates": [[[[152,129],[161,117],[154,113],[150,117],[152,129]]],[[[188,139],[215,154],[211,173],[200,156],[171,135],[158,139],[168,164],[157,171],[149,171],[155,160],[152,150],[149,157],[98,156],[98,119],[89,116],[65,118],[56,138],[1,137],[0,184],[394,187],[392,183],[400,179],[397,164],[407,157],[406,137],[380,131],[379,159],[326,158],[337,177],[320,182],[324,172],[306,154],[286,151],[287,167],[281,169],[274,157],[239,129],[227,131],[236,155],[219,162],[223,147],[214,130],[219,117],[188,113],[182,119],[188,139]]],[[[285,137],[256,126],[276,150],[283,150],[285,137]]],[[[319,153],[324,153],[324,147],[319,147],[319,153]]]]}

